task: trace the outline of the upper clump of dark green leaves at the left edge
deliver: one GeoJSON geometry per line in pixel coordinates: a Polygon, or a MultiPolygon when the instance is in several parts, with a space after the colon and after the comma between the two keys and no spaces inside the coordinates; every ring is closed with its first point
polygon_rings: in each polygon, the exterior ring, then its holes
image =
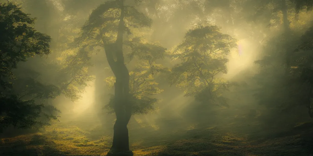
{"type": "Polygon", "coordinates": [[[0,7],[0,76],[2,87],[8,82],[3,78],[15,79],[12,72],[18,62],[27,61],[28,57],[43,56],[50,53],[50,37],[36,32],[34,18],[28,17],[12,3],[0,7]]]}

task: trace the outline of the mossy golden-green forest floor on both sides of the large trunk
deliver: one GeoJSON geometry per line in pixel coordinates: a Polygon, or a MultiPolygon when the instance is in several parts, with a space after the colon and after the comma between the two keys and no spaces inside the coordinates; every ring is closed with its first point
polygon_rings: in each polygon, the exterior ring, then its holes
{"type": "MultiPolygon", "coordinates": [[[[241,118],[242,117],[242,118],[241,118]]],[[[160,128],[130,123],[130,148],[135,156],[310,156],[313,125],[294,124],[284,129],[262,129],[257,120],[232,120],[208,126],[160,128]],[[188,128],[187,128],[188,127],[188,128]]],[[[168,122],[168,121],[167,121],[168,122]]],[[[40,133],[2,138],[3,156],[100,156],[106,155],[112,133],[103,127],[86,129],[91,122],[58,122],[40,133]]],[[[205,125],[205,124],[202,124],[205,125]]],[[[110,129],[110,128],[108,128],[110,129]]]]}

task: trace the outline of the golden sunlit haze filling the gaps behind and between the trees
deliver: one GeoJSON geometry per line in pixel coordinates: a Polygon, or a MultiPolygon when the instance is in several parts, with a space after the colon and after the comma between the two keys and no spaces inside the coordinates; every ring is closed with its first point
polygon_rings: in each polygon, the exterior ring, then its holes
{"type": "MultiPolygon", "coordinates": [[[[7,1],[0,0],[0,2],[7,1]]],[[[105,1],[15,0],[10,2],[20,5],[22,10],[29,13],[31,17],[37,17],[35,29],[52,38],[51,55],[29,58],[27,62],[20,63],[18,66],[38,71],[40,80],[53,84],[58,80],[55,76],[51,76],[54,74],[50,70],[53,66],[48,64],[61,62],[60,57],[67,56],[64,51],[67,51],[70,41],[78,35],[80,27],[88,19],[92,10],[105,1]]],[[[277,82],[283,80],[276,79],[273,75],[284,69],[281,65],[275,70],[269,67],[265,69],[264,66],[255,63],[257,60],[264,60],[265,56],[271,56],[272,58],[269,59],[271,62],[268,64],[273,63],[275,66],[275,63],[280,62],[283,56],[274,57],[274,54],[284,51],[286,45],[290,46],[287,49],[295,49],[300,44],[301,36],[311,27],[313,12],[304,6],[297,13],[296,4],[293,1],[287,1],[287,3],[289,27],[295,35],[283,39],[281,35],[284,31],[284,19],[282,12],[275,10],[276,1],[268,2],[268,4],[265,4],[265,1],[263,4],[253,0],[144,1],[139,8],[153,20],[148,40],[158,41],[169,51],[183,41],[188,29],[199,22],[219,26],[223,33],[238,39],[239,48],[233,49],[228,56],[228,73],[222,75],[225,80],[235,82],[236,85],[223,93],[223,96],[228,98],[229,107],[202,105],[193,97],[184,97],[182,90],[176,86],[170,86],[165,76],[160,74],[155,80],[159,83],[159,88],[164,91],[155,95],[160,100],[156,105],[157,111],[147,115],[132,116],[128,125],[131,140],[145,139],[156,133],[174,134],[182,130],[203,127],[217,126],[225,131],[237,130],[248,133],[272,126],[282,128],[281,125],[312,121],[307,113],[306,104],[302,102],[290,104],[292,107],[288,107],[289,110],[272,107],[278,105],[279,102],[272,100],[276,93],[269,93],[268,90],[277,89],[273,84],[276,80],[277,82]],[[265,83],[268,84],[267,88],[264,88],[265,83]],[[261,92],[262,95],[260,95],[261,92]]],[[[88,68],[88,75],[95,79],[88,81],[87,86],[76,84],[76,87],[82,91],[78,94],[81,95],[79,99],[72,101],[60,95],[56,99],[45,102],[54,105],[62,112],[59,114],[60,122],[53,124],[76,125],[90,133],[110,136],[113,134],[115,115],[107,114],[108,110],[103,108],[109,102],[109,94],[114,93],[106,86],[105,78],[113,74],[103,50],[92,55],[91,62],[93,66],[88,68]]],[[[159,60],[158,63],[172,67],[177,62],[172,61],[171,58],[165,58],[159,60]]],[[[136,64],[135,61],[130,62],[129,68],[134,64],[136,64]]],[[[58,66],[62,66],[62,63],[58,66]]],[[[18,70],[19,67],[17,72],[18,70]]],[[[296,89],[294,91],[297,92],[296,89]]],[[[278,92],[277,97],[290,101],[287,95],[281,95],[282,92],[278,92]]],[[[22,132],[21,130],[13,131],[10,128],[4,132],[4,135],[14,133],[22,132]]]]}

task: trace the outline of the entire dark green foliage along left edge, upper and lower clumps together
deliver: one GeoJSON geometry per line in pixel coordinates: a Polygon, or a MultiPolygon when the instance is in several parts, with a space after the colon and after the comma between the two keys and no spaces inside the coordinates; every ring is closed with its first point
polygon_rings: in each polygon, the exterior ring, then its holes
{"type": "MultiPolygon", "coordinates": [[[[9,125],[18,128],[33,128],[47,125],[39,121],[44,116],[48,121],[56,116],[42,112],[43,104],[36,98],[55,98],[59,88],[43,84],[39,74],[27,68],[17,68],[29,57],[50,54],[50,37],[36,32],[34,18],[23,13],[12,3],[0,4],[0,130],[9,125]]],[[[56,110],[54,107],[48,109],[56,110]]]]}

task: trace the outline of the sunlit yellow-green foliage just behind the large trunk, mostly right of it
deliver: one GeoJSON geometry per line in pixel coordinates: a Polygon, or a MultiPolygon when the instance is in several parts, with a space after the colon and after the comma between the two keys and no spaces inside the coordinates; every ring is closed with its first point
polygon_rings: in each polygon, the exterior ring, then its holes
{"type": "MultiPolygon", "coordinates": [[[[155,110],[155,105],[159,101],[152,98],[152,95],[160,94],[163,90],[157,87],[155,76],[167,68],[156,64],[157,59],[164,58],[165,48],[158,44],[144,43],[139,38],[126,42],[131,47],[129,53],[130,59],[137,59],[135,69],[129,72],[130,75],[130,94],[133,114],[148,114],[155,110]]],[[[109,88],[113,88],[115,83],[114,77],[106,78],[106,84],[109,88]]],[[[114,104],[114,96],[112,96],[106,108],[112,110],[114,104]]],[[[113,112],[111,112],[113,113],[113,112]]]]}

